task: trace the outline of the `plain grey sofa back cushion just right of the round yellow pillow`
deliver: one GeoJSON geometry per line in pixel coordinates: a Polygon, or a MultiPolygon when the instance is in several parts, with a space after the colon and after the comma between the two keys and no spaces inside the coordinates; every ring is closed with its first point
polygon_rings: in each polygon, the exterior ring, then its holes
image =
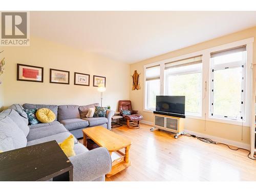
{"type": "Polygon", "coordinates": [[[78,105],[59,105],[58,107],[58,121],[65,119],[80,118],[78,105]]]}

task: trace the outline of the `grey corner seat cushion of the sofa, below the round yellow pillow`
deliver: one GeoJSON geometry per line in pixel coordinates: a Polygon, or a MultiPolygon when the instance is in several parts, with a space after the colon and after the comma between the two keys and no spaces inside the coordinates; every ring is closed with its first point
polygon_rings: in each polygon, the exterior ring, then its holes
{"type": "Polygon", "coordinates": [[[27,136],[28,141],[32,141],[35,139],[40,139],[43,137],[55,135],[58,133],[64,133],[68,132],[68,130],[63,126],[62,124],[54,124],[50,126],[45,126],[45,127],[39,127],[36,129],[32,129],[29,132],[29,135],[27,136]]]}

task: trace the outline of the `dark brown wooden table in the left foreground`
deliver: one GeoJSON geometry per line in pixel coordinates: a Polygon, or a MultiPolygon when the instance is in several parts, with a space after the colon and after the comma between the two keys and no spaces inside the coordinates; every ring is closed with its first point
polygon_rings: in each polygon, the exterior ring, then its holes
{"type": "Polygon", "coordinates": [[[55,140],[0,153],[0,181],[47,181],[69,171],[73,180],[73,165],[55,140]]]}

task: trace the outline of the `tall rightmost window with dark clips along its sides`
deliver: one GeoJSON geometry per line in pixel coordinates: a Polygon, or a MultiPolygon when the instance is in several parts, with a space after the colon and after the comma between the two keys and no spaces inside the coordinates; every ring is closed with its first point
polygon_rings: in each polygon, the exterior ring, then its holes
{"type": "Polygon", "coordinates": [[[241,121],[245,116],[246,47],[210,55],[209,116],[241,121]]]}

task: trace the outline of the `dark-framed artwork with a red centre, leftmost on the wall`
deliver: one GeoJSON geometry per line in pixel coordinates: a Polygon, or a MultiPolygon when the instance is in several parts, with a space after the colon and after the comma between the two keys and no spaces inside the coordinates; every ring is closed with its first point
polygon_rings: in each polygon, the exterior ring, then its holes
{"type": "Polygon", "coordinates": [[[17,63],[17,81],[44,82],[44,68],[17,63]]]}

